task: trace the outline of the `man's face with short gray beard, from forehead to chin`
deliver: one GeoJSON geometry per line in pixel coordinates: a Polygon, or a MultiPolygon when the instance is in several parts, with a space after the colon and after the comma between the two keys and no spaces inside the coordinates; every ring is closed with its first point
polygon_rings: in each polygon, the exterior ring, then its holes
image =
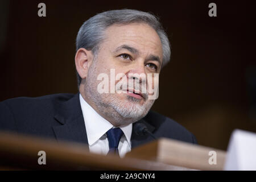
{"type": "MultiPolygon", "coordinates": [[[[148,86],[154,88],[154,73],[159,73],[162,65],[162,44],[155,30],[144,23],[114,24],[105,31],[105,40],[100,44],[97,56],[89,68],[88,76],[85,80],[85,98],[92,100],[97,111],[106,118],[114,119],[114,125],[126,125],[138,121],[144,117],[154,100],[148,100],[148,86]],[[131,77],[130,73],[142,73],[148,76],[151,73],[152,84],[148,85],[146,77],[147,93],[135,94],[126,89],[125,93],[99,93],[97,90],[101,80],[97,80],[100,73],[110,76],[110,69],[114,69],[115,76],[124,73],[127,79],[127,89],[129,80],[134,83],[139,78],[131,77]]],[[[115,80],[115,85],[121,80],[115,80]]],[[[139,81],[142,84],[141,80],[139,81]]],[[[110,83],[110,80],[109,80],[110,83]]],[[[109,84],[109,90],[110,88],[109,84]]],[[[122,89],[122,87],[121,87],[122,89]]]]}

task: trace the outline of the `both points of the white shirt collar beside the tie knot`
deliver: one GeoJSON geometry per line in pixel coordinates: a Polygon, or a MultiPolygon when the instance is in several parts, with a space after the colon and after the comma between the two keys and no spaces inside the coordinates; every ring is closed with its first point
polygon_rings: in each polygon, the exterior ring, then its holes
{"type": "MultiPolygon", "coordinates": [[[[79,99],[82,109],[82,115],[85,121],[88,143],[91,146],[98,139],[100,139],[102,135],[104,135],[109,129],[112,129],[112,127],[114,126],[108,120],[101,117],[101,115],[98,114],[96,110],[94,110],[93,107],[84,100],[84,98],[82,98],[81,94],[79,95],[79,99]]],[[[120,129],[125,134],[126,140],[131,147],[131,131],[133,129],[133,124],[130,123],[129,125],[121,126],[120,129]]]]}

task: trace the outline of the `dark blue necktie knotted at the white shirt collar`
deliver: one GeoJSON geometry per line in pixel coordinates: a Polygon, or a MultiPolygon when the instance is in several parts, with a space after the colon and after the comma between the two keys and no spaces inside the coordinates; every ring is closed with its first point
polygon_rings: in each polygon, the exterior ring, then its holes
{"type": "Polygon", "coordinates": [[[106,134],[107,134],[108,140],[109,140],[108,154],[112,153],[112,154],[119,155],[118,144],[123,135],[123,131],[119,127],[116,127],[114,129],[110,129],[109,131],[107,131],[106,134]]]}

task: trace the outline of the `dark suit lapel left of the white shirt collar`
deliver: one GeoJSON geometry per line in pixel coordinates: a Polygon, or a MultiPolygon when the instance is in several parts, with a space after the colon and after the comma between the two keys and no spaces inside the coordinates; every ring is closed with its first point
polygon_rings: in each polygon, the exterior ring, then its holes
{"type": "Polygon", "coordinates": [[[53,126],[57,140],[88,144],[79,93],[56,108],[54,118],[61,124],[60,126],[53,126]]]}

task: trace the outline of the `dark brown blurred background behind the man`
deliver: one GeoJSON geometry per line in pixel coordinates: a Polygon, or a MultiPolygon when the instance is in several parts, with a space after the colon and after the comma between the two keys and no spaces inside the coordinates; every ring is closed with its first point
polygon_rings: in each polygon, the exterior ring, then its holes
{"type": "Polygon", "coordinates": [[[0,101],[77,93],[75,39],[82,23],[106,10],[160,17],[172,45],[152,107],[226,150],[234,129],[256,132],[253,1],[0,1],[0,101]],[[38,4],[46,3],[46,17],[38,4]],[[217,5],[217,17],[208,5],[217,5]]]}

